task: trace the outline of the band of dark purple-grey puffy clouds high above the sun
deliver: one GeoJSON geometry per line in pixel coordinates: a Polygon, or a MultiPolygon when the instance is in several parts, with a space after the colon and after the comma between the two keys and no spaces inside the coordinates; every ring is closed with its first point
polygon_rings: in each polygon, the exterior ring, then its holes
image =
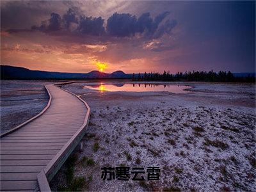
{"type": "MultiPolygon", "coordinates": [[[[79,8],[68,8],[63,15],[52,12],[50,18],[43,21],[37,21],[40,25],[31,26],[32,30],[42,31],[44,33],[55,32],[54,35],[63,35],[63,31],[68,35],[108,35],[113,37],[135,36],[136,33],[146,38],[159,38],[164,33],[170,33],[177,22],[175,20],[163,20],[170,12],[163,12],[152,18],[150,13],[143,13],[140,17],[129,13],[114,13],[108,18],[106,29],[104,28],[104,19],[102,17],[86,17],[80,15],[79,8]],[[163,22],[163,24],[162,24],[163,22]],[[57,32],[57,33],[56,33],[57,32]],[[71,33],[69,33],[71,32],[71,33]]],[[[8,29],[10,33],[29,31],[29,29],[8,29]]]]}

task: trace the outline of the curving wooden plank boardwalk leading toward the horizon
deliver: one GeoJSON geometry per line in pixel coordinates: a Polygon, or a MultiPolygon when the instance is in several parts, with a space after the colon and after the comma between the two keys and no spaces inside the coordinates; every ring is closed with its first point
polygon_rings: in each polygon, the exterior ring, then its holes
{"type": "Polygon", "coordinates": [[[21,127],[1,135],[1,191],[49,191],[48,182],[83,138],[90,108],[53,84],[48,108],[21,127]]]}

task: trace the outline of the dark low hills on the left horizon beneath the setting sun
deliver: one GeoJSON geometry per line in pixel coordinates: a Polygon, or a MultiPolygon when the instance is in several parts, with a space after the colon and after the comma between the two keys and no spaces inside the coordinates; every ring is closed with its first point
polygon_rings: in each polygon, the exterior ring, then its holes
{"type": "Polygon", "coordinates": [[[1,79],[127,79],[132,74],[125,74],[118,70],[111,74],[93,70],[88,73],[65,73],[65,72],[47,72],[42,70],[29,70],[24,67],[12,67],[0,65],[1,79]]]}

